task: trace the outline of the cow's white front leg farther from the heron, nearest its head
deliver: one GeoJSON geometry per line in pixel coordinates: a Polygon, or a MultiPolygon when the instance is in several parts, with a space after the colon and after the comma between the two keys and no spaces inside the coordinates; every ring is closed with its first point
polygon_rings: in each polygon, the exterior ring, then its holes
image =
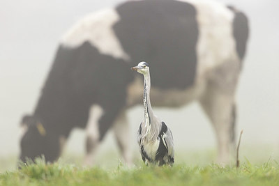
{"type": "Polygon", "coordinates": [[[96,150],[100,144],[99,121],[103,116],[103,108],[94,104],[89,111],[89,121],[86,126],[86,155],[84,165],[91,166],[94,163],[96,150]]]}

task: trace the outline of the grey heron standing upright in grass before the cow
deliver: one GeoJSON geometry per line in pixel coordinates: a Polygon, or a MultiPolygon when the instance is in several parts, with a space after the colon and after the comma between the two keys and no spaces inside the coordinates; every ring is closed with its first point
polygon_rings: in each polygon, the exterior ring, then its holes
{"type": "Polygon", "coordinates": [[[132,70],[144,75],[144,121],[138,130],[137,142],[145,164],[174,163],[174,143],[171,130],[167,125],[153,114],[150,102],[151,78],[149,64],[142,61],[132,70]]]}

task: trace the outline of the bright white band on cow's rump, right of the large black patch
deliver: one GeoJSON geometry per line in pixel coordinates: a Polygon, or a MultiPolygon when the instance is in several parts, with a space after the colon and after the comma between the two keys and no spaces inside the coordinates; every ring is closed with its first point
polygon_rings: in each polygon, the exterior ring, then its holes
{"type": "Polygon", "coordinates": [[[197,77],[236,57],[232,22],[234,13],[216,1],[181,0],[197,10],[197,77]]]}

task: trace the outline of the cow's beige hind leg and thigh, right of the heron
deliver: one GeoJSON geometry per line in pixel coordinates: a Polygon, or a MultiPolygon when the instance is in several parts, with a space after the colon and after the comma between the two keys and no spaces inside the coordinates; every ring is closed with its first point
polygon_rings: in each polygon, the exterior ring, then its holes
{"type": "Polygon", "coordinates": [[[210,72],[207,86],[200,98],[202,108],[209,116],[216,132],[218,162],[227,164],[234,157],[236,106],[234,94],[239,79],[239,62],[225,61],[210,72]]]}

